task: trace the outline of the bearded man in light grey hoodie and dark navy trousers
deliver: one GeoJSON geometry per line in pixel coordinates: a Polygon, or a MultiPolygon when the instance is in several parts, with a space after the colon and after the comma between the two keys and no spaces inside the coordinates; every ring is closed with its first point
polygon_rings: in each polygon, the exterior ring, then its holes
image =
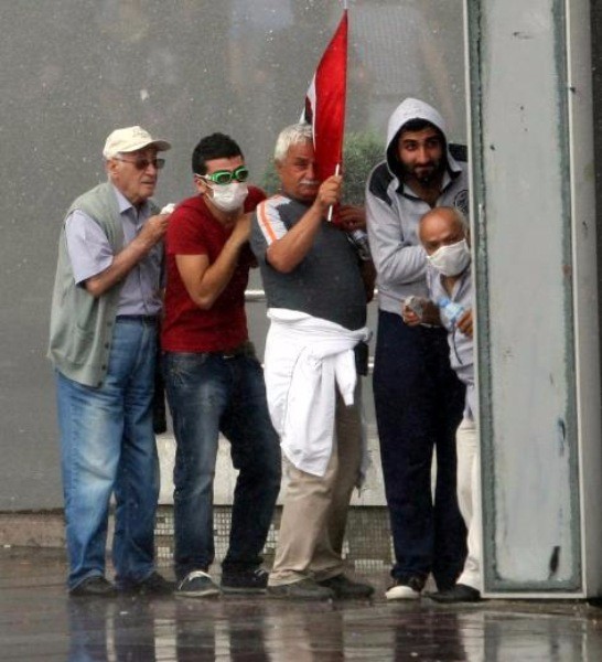
{"type": "Polygon", "coordinates": [[[408,98],[389,119],[386,159],[366,188],[379,292],[374,397],[396,556],[394,585],[386,594],[390,600],[419,597],[430,573],[439,590],[451,588],[466,554],[454,441],[464,387],[450,367],[445,331],[410,327],[401,317],[407,298],[428,292],[420,218],[442,205],[467,213],[467,171],[460,160],[452,156],[439,113],[408,98]]]}

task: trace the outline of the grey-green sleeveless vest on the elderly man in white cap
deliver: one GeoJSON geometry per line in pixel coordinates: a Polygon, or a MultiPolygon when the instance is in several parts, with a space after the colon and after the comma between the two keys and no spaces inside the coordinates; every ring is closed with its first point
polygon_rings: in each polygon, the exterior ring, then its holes
{"type": "MultiPolygon", "coordinates": [[[[115,255],[123,248],[121,216],[110,183],[99,184],[80,195],[71,205],[65,220],[74,210],[82,210],[98,223],[115,255]]],[[[121,284],[98,298],[75,284],[65,220],[58,241],[47,355],[56,370],[69,380],[86,386],[101,386],[108,367],[121,284]]]]}

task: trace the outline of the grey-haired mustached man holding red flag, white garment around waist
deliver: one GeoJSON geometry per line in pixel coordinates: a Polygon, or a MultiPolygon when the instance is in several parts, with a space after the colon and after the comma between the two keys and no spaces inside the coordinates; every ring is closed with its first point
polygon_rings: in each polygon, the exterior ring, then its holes
{"type": "Polygon", "coordinates": [[[278,598],[366,598],[374,591],[345,576],[342,558],[350,499],[363,474],[357,369],[369,337],[359,259],[346,233],[327,220],[342,191],[335,164],[346,38],[345,12],[308,95],[313,130],[299,124],[279,135],[281,193],[259,204],[251,234],[271,320],[268,406],[289,478],[268,580],[268,594],[278,598]],[[324,125],[329,119],[334,127],[324,125]]]}

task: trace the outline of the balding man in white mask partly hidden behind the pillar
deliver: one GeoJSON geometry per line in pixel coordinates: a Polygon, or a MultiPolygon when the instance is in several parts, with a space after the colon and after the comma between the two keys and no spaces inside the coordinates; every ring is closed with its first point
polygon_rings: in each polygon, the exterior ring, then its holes
{"type": "Polygon", "coordinates": [[[436,207],[422,216],[420,243],[427,252],[427,285],[429,300],[419,306],[406,305],[404,321],[410,327],[420,323],[443,324],[448,331],[450,363],[466,386],[462,423],[455,433],[458,450],[458,503],[469,530],[469,554],[458,583],[432,594],[438,602],[473,602],[481,597],[481,495],[479,491],[479,435],[476,428],[476,392],[472,329],[471,253],[467,243],[469,224],[454,207],[436,207]],[[453,309],[436,302],[451,301],[453,309]]]}

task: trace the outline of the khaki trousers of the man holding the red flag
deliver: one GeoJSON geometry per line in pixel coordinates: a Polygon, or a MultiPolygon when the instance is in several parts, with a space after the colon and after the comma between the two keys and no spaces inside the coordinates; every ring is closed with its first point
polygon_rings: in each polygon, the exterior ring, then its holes
{"type": "Polygon", "coordinates": [[[305,577],[321,581],[344,570],[341,554],[347,511],[362,463],[361,398],[359,377],[351,407],[337,393],[333,449],[324,476],[300,471],[287,460],[289,484],[270,586],[305,577]]]}

